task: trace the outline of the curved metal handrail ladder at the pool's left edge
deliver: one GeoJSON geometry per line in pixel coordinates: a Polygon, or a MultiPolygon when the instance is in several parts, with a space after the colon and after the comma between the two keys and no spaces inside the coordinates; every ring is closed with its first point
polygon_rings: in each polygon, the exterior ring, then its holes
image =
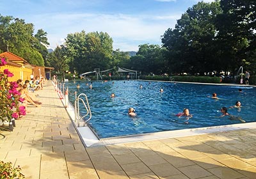
{"type": "Polygon", "coordinates": [[[83,122],[84,127],[91,118],[92,112],[90,109],[88,98],[84,93],[81,93],[80,95],[78,95],[78,97],[76,97],[75,100],[75,122],[77,121],[77,127],[81,127],[81,122],[83,122]],[[84,116],[80,116],[80,103],[82,103],[84,105],[84,108],[86,109],[86,114],[84,116]]]}

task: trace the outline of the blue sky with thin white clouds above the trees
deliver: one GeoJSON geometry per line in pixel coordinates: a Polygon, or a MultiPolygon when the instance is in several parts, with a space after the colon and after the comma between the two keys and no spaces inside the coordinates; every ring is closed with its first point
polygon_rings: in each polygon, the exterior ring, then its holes
{"type": "MultiPolygon", "coordinates": [[[[50,47],[69,33],[102,31],[113,38],[113,49],[138,51],[138,45],[161,45],[161,35],[173,28],[199,0],[0,0],[0,13],[24,19],[47,32],[50,47]]],[[[205,0],[205,3],[213,0],[205,0]]]]}

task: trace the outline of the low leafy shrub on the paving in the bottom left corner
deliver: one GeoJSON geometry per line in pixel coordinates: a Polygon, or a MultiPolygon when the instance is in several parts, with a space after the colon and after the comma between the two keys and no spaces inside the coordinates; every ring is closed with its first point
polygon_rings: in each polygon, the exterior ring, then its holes
{"type": "Polygon", "coordinates": [[[20,173],[21,169],[20,166],[17,166],[15,168],[12,167],[12,162],[3,162],[0,161],[0,178],[25,178],[22,173],[20,173]]]}

